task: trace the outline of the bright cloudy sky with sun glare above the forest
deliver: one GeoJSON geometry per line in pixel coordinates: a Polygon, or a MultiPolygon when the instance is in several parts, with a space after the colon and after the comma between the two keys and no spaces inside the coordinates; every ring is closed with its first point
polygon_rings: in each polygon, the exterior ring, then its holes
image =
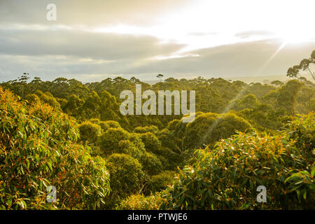
{"type": "Polygon", "coordinates": [[[285,76],[315,50],[314,8],[314,0],[0,0],[0,82],[22,73],[83,82],[285,76]]]}

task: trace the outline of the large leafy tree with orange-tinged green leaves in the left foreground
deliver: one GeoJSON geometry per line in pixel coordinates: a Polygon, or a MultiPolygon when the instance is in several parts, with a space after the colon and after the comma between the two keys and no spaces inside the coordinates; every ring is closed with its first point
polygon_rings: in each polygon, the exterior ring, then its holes
{"type": "Polygon", "coordinates": [[[0,87],[1,209],[96,209],[109,194],[102,158],[75,144],[76,123],[47,104],[27,107],[0,87]],[[46,202],[46,188],[57,202],[46,202]]]}

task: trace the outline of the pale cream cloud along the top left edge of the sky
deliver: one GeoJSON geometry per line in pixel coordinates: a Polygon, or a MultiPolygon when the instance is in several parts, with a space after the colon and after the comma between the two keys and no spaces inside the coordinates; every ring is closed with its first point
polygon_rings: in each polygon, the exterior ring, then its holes
{"type": "Polygon", "coordinates": [[[62,25],[102,26],[124,22],[150,25],[156,15],[178,10],[188,0],[1,0],[0,24],[50,24],[46,20],[46,6],[55,3],[57,22],[62,25]]]}

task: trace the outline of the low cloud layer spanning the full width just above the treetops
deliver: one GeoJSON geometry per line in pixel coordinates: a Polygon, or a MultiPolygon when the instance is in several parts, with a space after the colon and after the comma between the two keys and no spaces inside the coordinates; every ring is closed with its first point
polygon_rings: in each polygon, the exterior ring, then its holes
{"type": "MultiPolygon", "coordinates": [[[[286,75],[288,67],[309,57],[315,42],[303,45],[287,45],[278,55],[257,73],[281,45],[279,40],[255,41],[205,48],[188,52],[187,57],[147,60],[143,57],[106,60],[76,55],[0,55],[0,80],[12,80],[23,72],[52,80],[59,76],[77,78],[84,82],[99,81],[112,75],[125,78],[136,76],[142,80],[154,80],[158,73],[166,77],[192,78],[196,76],[274,76],[286,75]],[[199,55],[198,57],[190,57],[199,55]],[[82,57],[81,57],[82,56],[82,57]]],[[[128,51],[125,55],[128,55],[128,51]]],[[[149,50],[150,51],[150,50],[149,50]]],[[[157,51],[159,52],[159,51],[157,51]]],[[[123,51],[120,52],[124,55],[123,51]]],[[[89,54],[87,54],[89,55],[89,54]]],[[[99,54],[102,56],[102,54],[99,54]]],[[[151,55],[144,52],[142,55],[151,55]]],[[[98,56],[98,55],[96,55],[98,56]]]]}

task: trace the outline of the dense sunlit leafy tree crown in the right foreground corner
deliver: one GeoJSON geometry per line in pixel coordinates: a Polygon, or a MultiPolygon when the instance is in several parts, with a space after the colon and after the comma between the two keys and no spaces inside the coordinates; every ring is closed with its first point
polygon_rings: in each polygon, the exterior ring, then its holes
{"type": "MultiPolygon", "coordinates": [[[[292,128],[300,130],[301,125],[305,133],[312,125],[313,133],[314,115],[295,120],[292,128]]],[[[287,131],[274,137],[239,133],[213,149],[199,150],[197,162],[167,189],[164,208],[314,209],[314,145],[305,144],[309,137],[314,141],[314,133],[302,138],[304,151],[287,131]],[[256,201],[258,186],[267,188],[265,204],[256,201]]]]}

